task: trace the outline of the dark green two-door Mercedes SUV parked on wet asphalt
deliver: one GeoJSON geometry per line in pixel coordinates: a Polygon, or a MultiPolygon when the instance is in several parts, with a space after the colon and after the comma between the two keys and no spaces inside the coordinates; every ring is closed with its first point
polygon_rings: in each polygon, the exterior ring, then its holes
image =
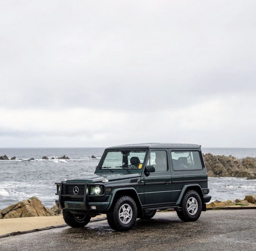
{"type": "Polygon", "coordinates": [[[157,209],[176,210],[183,221],[196,221],[211,196],[201,146],[148,143],[107,148],[95,173],[56,183],[63,218],[84,227],[101,213],[114,230],[131,229],[137,218],[157,209]]]}

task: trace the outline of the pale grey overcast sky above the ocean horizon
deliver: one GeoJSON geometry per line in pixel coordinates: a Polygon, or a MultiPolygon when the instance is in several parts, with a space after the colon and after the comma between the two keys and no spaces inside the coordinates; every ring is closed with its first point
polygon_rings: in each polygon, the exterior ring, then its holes
{"type": "Polygon", "coordinates": [[[255,1],[0,1],[0,147],[256,147],[255,1]]]}

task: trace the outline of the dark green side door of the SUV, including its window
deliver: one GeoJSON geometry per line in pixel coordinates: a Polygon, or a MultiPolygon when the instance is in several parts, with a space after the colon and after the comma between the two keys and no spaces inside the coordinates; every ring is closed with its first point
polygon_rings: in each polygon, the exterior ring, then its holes
{"type": "Polygon", "coordinates": [[[151,149],[147,165],[155,166],[155,172],[143,174],[145,205],[171,202],[171,172],[167,149],[151,149]]]}

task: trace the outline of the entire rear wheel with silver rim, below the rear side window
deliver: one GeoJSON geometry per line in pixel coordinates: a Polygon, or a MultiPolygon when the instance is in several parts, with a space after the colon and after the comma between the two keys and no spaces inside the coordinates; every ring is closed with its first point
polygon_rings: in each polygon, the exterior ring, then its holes
{"type": "Polygon", "coordinates": [[[196,221],[202,212],[202,200],[195,190],[189,190],[182,199],[182,210],[177,211],[182,221],[196,221]]]}

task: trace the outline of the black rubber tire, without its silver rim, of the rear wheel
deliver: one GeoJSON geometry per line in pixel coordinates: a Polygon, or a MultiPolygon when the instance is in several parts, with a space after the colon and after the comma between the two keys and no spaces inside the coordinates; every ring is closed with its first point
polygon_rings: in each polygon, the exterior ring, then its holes
{"type": "Polygon", "coordinates": [[[202,212],[202,200],[200,195],[195,190],[189,190],[186,192],[186,194],[183,196],[182,202],[181,202],[182,211],[177,210],[177,215],[182,221],[196,221],[202,212]],[[197,201],[198,207],[197,211],[194,215],[191,215],[187,210],[187,202],[189,198],[194,197],[197,201]]]}

